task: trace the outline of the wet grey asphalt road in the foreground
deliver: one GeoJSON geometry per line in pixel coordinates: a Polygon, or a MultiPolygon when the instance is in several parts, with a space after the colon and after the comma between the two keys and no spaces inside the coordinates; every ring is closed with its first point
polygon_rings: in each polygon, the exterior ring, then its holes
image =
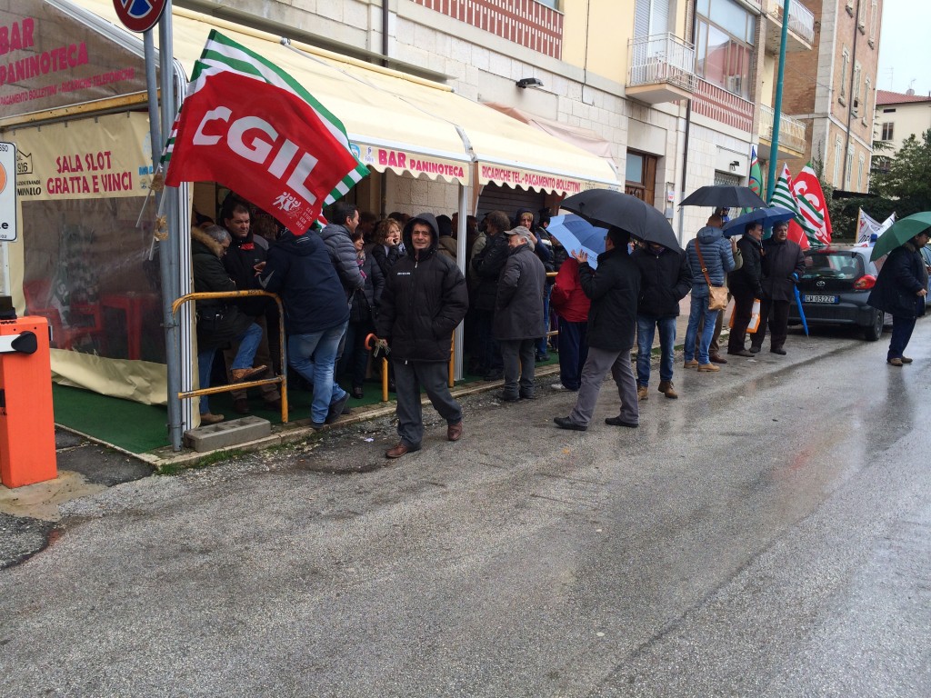
{"type": "Polygon", "coordinates": [[[931,695],[931,320],[887,338],[680,357],[637,430],[474,396],[398,462],[383,420],[69,503],[0,570],[0,695],[931,695]]]}

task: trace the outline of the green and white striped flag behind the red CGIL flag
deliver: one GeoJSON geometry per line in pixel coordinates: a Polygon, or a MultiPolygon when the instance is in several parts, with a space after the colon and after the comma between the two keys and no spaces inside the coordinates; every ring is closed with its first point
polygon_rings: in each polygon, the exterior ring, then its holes
{"type": "MultiPolygon", "coordinates": [[[[304,86],[270,60],[238,44],[228,36],[224,36],[216,30],[211,30],[204,50],[200,58],[196,60],[194,64],[194,72],[191,75],[191,82],[188,85],[187,96],[190,97],[203,87],[209,75],[223,72],[241,74],[256,80],[262,80],[269,85],[286,90],[299,99],[307,102],[310,108],[317,114],[323,126],[330,131],[333,139],[338,141],[346,151],[353,154],[353,158],[356,160],[356,168],[346,173],[343,180],[340,181],[331,194],[327,196],[324,204],[331,204],[342,198],[350,189],[358,184],[359,181],[368,176],[369,169],[362,165],[353,153],[343,123],[335,115],[331,114],[323,104],[317,101],[304,86]]],[[[174,142],[177,138],[177,131],[178,119],[176,118],[171,128],[169,140],[165,146],[165,152],[162,154],[161,163],[163,167],[167,166],[171,160],[174,142]]]]}

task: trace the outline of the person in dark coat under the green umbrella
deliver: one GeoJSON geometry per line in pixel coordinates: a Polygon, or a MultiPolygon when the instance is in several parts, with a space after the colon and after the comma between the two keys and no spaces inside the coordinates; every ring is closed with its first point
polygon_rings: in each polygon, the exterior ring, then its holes
{"type": "Polygon", "coordinates": [[[886,363],[892,366],[911,364],[904,356],[915,319],[924,315],[924,296],[928,292],[928,274],[922,253],[931,229],[915,235],[900,248],[889,252],[883,268],[870,291],[870,305],[892,315],[892,338],[886,363]]]}

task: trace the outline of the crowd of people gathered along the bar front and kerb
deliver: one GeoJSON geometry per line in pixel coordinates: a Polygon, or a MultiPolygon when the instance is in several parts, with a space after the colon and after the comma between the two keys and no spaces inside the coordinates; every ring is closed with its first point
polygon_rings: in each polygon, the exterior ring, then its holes
{"type": "MultiPolygon", "coordinates": [[[[575,404],[554,423],[587,430],[608,371],[620,409],[605,423],[637,427],[639,403],[649,399],[656,332],[660,360],[658,392],[676,398],[676,319],[691,293],[684,338],[684,369],[719,371],[722,304],[735,310],[727,343],[729,356],[752,357],[770,338],[770,351],[785,355],[793,284],[804,272],[801,248],[776,224],[762,239],[751,223],[737,240],[723,235],[726,210],[708,218],[684,250],[631,241],[608,229],[597,267],[582,250],[566,250],[549,235],[546,211],[504,211],[466,221],[466,274],[457,264],[458,221],[452,217],[394,212],[379,221],[352,204],[338,202],[325,227],[294,235],[274,226],[256,235],[247,202],[230,197],[223,225],[198,221],[194,230],[196,291],[266,289],[278,293],[285,311],[290,377],[312,387],[311,425],[320,428],[349,411],[350,397],[364,396],[375,335],[388,352],[390,389],[397,397],[398,444],[389,458],[419,450],[424,437],[423,390],[447,423],[447,438],[463,435],[463,413],[447,383],[452,332],[465,320],[468,371],[502,380],[497,397],[534,399],[535,365],[553,346],[560,361],[554,390],[577,393],[575,404]],[[555,274],[551,274],[555,272],[555,274]],[[759,327],[749,328],[760,302],[759,327]],[[553,332],[552,330],[557,330],[553,332]],[[749,347],[747,338],[750,338],[749,347]],[[636,343],[636,370],[630,355],[636,343]],[[337,379],[351,385],[344,390],[337,379]]],[[[879,288],[882,288],[880,285],[879,288]]],[[[274,375],[278,338],[276,307],[265,297],[197,302],[200,384],[209,386],[218,349],[230,383],[274,375]],[[274,335],[274,333],[273,333],[274,335]]],[[[912,322],[913,325],[913,322],[912,322]]],[[[904,325],[902,325],[904,328],[904,325]]],[[[905,329],[894,331],[890,363],[901,356],[905,329]]],[[[908,338],[904,337],[904,342],[908,338]]],[[[277,385],[261,386],[264,402],[280,407],[277,385]]],[[[234,409],[248,413],[244,390],[234,409]]],[[[216,423],[207,396],[202,423],[216,423]]]]}

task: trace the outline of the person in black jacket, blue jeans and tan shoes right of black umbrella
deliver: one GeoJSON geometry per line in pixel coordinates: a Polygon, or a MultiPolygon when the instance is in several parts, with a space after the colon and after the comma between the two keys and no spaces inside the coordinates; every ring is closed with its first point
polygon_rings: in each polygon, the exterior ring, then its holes
{"type": "Polygon", "coordinates": [[[659,392],[675,399],[672,364],[676,357],[676,318],[679,302],[692,290],[692,269],[684,250],[648,243],[631,259],[641,271],[637,303],[637,397],[648,398],[650,358],[659,328],[659,392]]]}

